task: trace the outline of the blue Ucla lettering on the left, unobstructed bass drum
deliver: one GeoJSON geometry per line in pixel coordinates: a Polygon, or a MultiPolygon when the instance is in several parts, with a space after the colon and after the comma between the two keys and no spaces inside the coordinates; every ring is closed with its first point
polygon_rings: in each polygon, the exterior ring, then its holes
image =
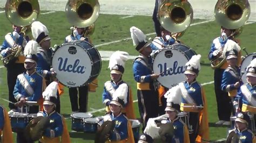
{"type": "Polygon", "coordinates": [[[84,66],[79,66],[79,62],[80,60],[77,59],[73,65],[67,65],[68,62],[68,58],[65,58],[64,62],[63,59],[60,57],[58,58],[59,61],[59,66],[58,69],[59,71],[68,71],[69,73],[78,73],[78,74],[83,74],[85,71],[85,67],[84,66]]]}

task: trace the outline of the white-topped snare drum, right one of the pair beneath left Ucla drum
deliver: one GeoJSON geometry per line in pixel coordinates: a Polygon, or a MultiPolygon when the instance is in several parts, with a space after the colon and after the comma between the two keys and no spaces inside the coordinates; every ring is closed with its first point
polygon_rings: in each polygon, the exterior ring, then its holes
{"type": "Polygon", "coordinates": [[[86,118],[84,119],[84,132],[96,133],[98,129],[98,119],[97,118],[86,118]]]}

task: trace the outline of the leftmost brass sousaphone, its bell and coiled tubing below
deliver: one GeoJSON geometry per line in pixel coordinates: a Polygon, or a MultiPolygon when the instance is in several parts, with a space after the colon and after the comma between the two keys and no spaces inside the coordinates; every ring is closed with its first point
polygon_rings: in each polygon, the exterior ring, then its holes
{"type": "MultiPolygon", "coordinates": [[[[30,30],[31,23],[39,15],[39,3],[36,0],[8,0],[5,4],[5,15],[12,24],[22,26],[21,33],[25,37],[25,32],[30,30]]],[[[23,51],[22,46],[16,45],[16,42],[10,46],[12,46],[11,53],[2,58],[4,65],[17,58],[23,51]]]]}

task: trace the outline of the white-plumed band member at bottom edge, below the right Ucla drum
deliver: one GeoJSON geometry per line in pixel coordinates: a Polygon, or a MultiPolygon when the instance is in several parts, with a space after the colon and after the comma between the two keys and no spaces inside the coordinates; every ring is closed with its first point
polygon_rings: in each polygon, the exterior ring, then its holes
{"type": "Polygon", "coordinates": [[[164,95],[167,98],[167,106],[165,108],[166,114],[169,115],[169,120],[174,127],[174,135],[172,142],[190,142],[190,136],[188,133],[187,125],[183,120],[179,119],[178,113],[180,112],[181,103],[181,90],[179,86],[172,87],[164,95]]]}

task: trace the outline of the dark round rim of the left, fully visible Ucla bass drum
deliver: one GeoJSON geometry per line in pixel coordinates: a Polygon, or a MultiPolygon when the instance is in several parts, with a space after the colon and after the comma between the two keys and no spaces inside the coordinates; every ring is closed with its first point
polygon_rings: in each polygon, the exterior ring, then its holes
{"type": "MultiPolygon", "coordinates": [[[[78,44],[74,43],[74,42],[76,42],[76,41],[86,42],[87,44],[91,45],[93,48],[96,49],[96,52],[97,52],[97,54],[99,55],[99,61],[100,61],[100,67],[99,67],[99,74],[100,74],[100,71],[101,71],[101,69],[102,69],[102,56],[100,56],[98,49],[97,49],[94,45],[92,45],[90,42],[87,42],[87,41],[73,40],[73,41],[71,41],[71,42],[67,42],[67,43],[58,45],[58,46],[56,47],[56,49],[52,52],[51,59],[53,59],[53,56],[55,55],[56,51],[57,51],[60,47],[62,47],[62,46],[64,46],[64,45],[68,45],[68,44],[70,44],[70,43],[73,43],[74,45],[78,45],[78,44]]],[[[83,49],[84,49],[84,48],[83,48],[83,49]]],[[[88,54],[87,50],[84,50],[84,51],[85,51],[85,52],[87,53],[87,55],[89,56],[89,58],[90,58],[90,60],[91,60],[91,65],[93,65],[93,64],[92,64],[92,57],[91,57],[91,55],[88,54]]],[[[53,62],[53,60],[51,60],[51,65],[52,65],[52,62],[53,62]]],[[[83,87],[84,85],[88,84],[88,81],[90,81],[90,80],[91,80],[91,81],[95,80],[95,79],[98,77],[98,75],[99,75],[99,74],[97,74],[97,75],[91,76],[91,74],[92,74],[92,70],[91,70],[91,73],[90,73],[90,76],[89,76],[88,80],[87,80],[84,84],[79,85],[78,87],[83,87]],[[91,78],[93,78],[93,79],[91,79],[91,78]]],[[[59,81],[59,83],[61,83],[61,84],[64,85],[65,87],[71,88],[70,86],[64,84],[63,82],[60,82],[60,81],[59,81]]],[[[72,88],[76,88],[76,87],[72,87],[72,88]]]]}

